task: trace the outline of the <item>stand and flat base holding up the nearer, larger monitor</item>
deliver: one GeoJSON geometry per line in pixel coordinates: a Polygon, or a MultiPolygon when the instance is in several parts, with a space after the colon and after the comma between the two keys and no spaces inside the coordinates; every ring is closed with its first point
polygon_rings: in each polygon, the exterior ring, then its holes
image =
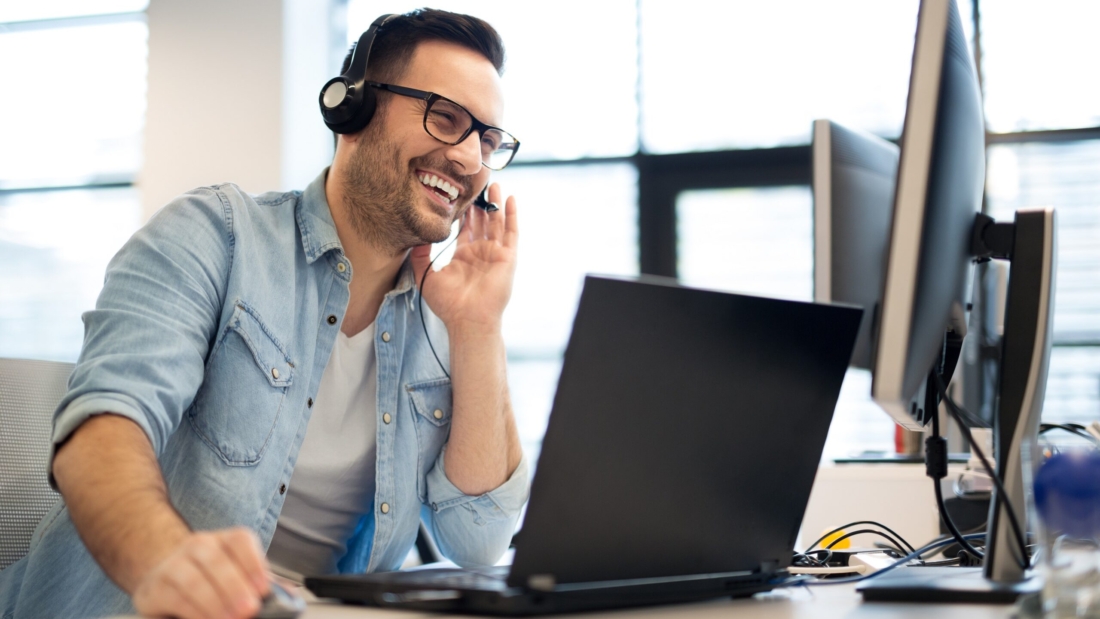
{"type": "MultiPolygon", "coordinates": [[[[1011,261],[993,451],[1007,502],[1024,535],[1030,497],[1025,479],[1031,482],[1037,464],[1034,450],[1050,362],[1055,248],[1052,208],[1016,211],[1015,223],[994,223],[981,214],[975,223],[975,257],[1011,261]]],[[[1019,554],[1009,517],[994,488],[989,501],[986,559],[980,570],[899,567],[856,588],[866,601],[1011,604],[1042,587],[1037,577],[1020,566],[1019,554]]]]}

